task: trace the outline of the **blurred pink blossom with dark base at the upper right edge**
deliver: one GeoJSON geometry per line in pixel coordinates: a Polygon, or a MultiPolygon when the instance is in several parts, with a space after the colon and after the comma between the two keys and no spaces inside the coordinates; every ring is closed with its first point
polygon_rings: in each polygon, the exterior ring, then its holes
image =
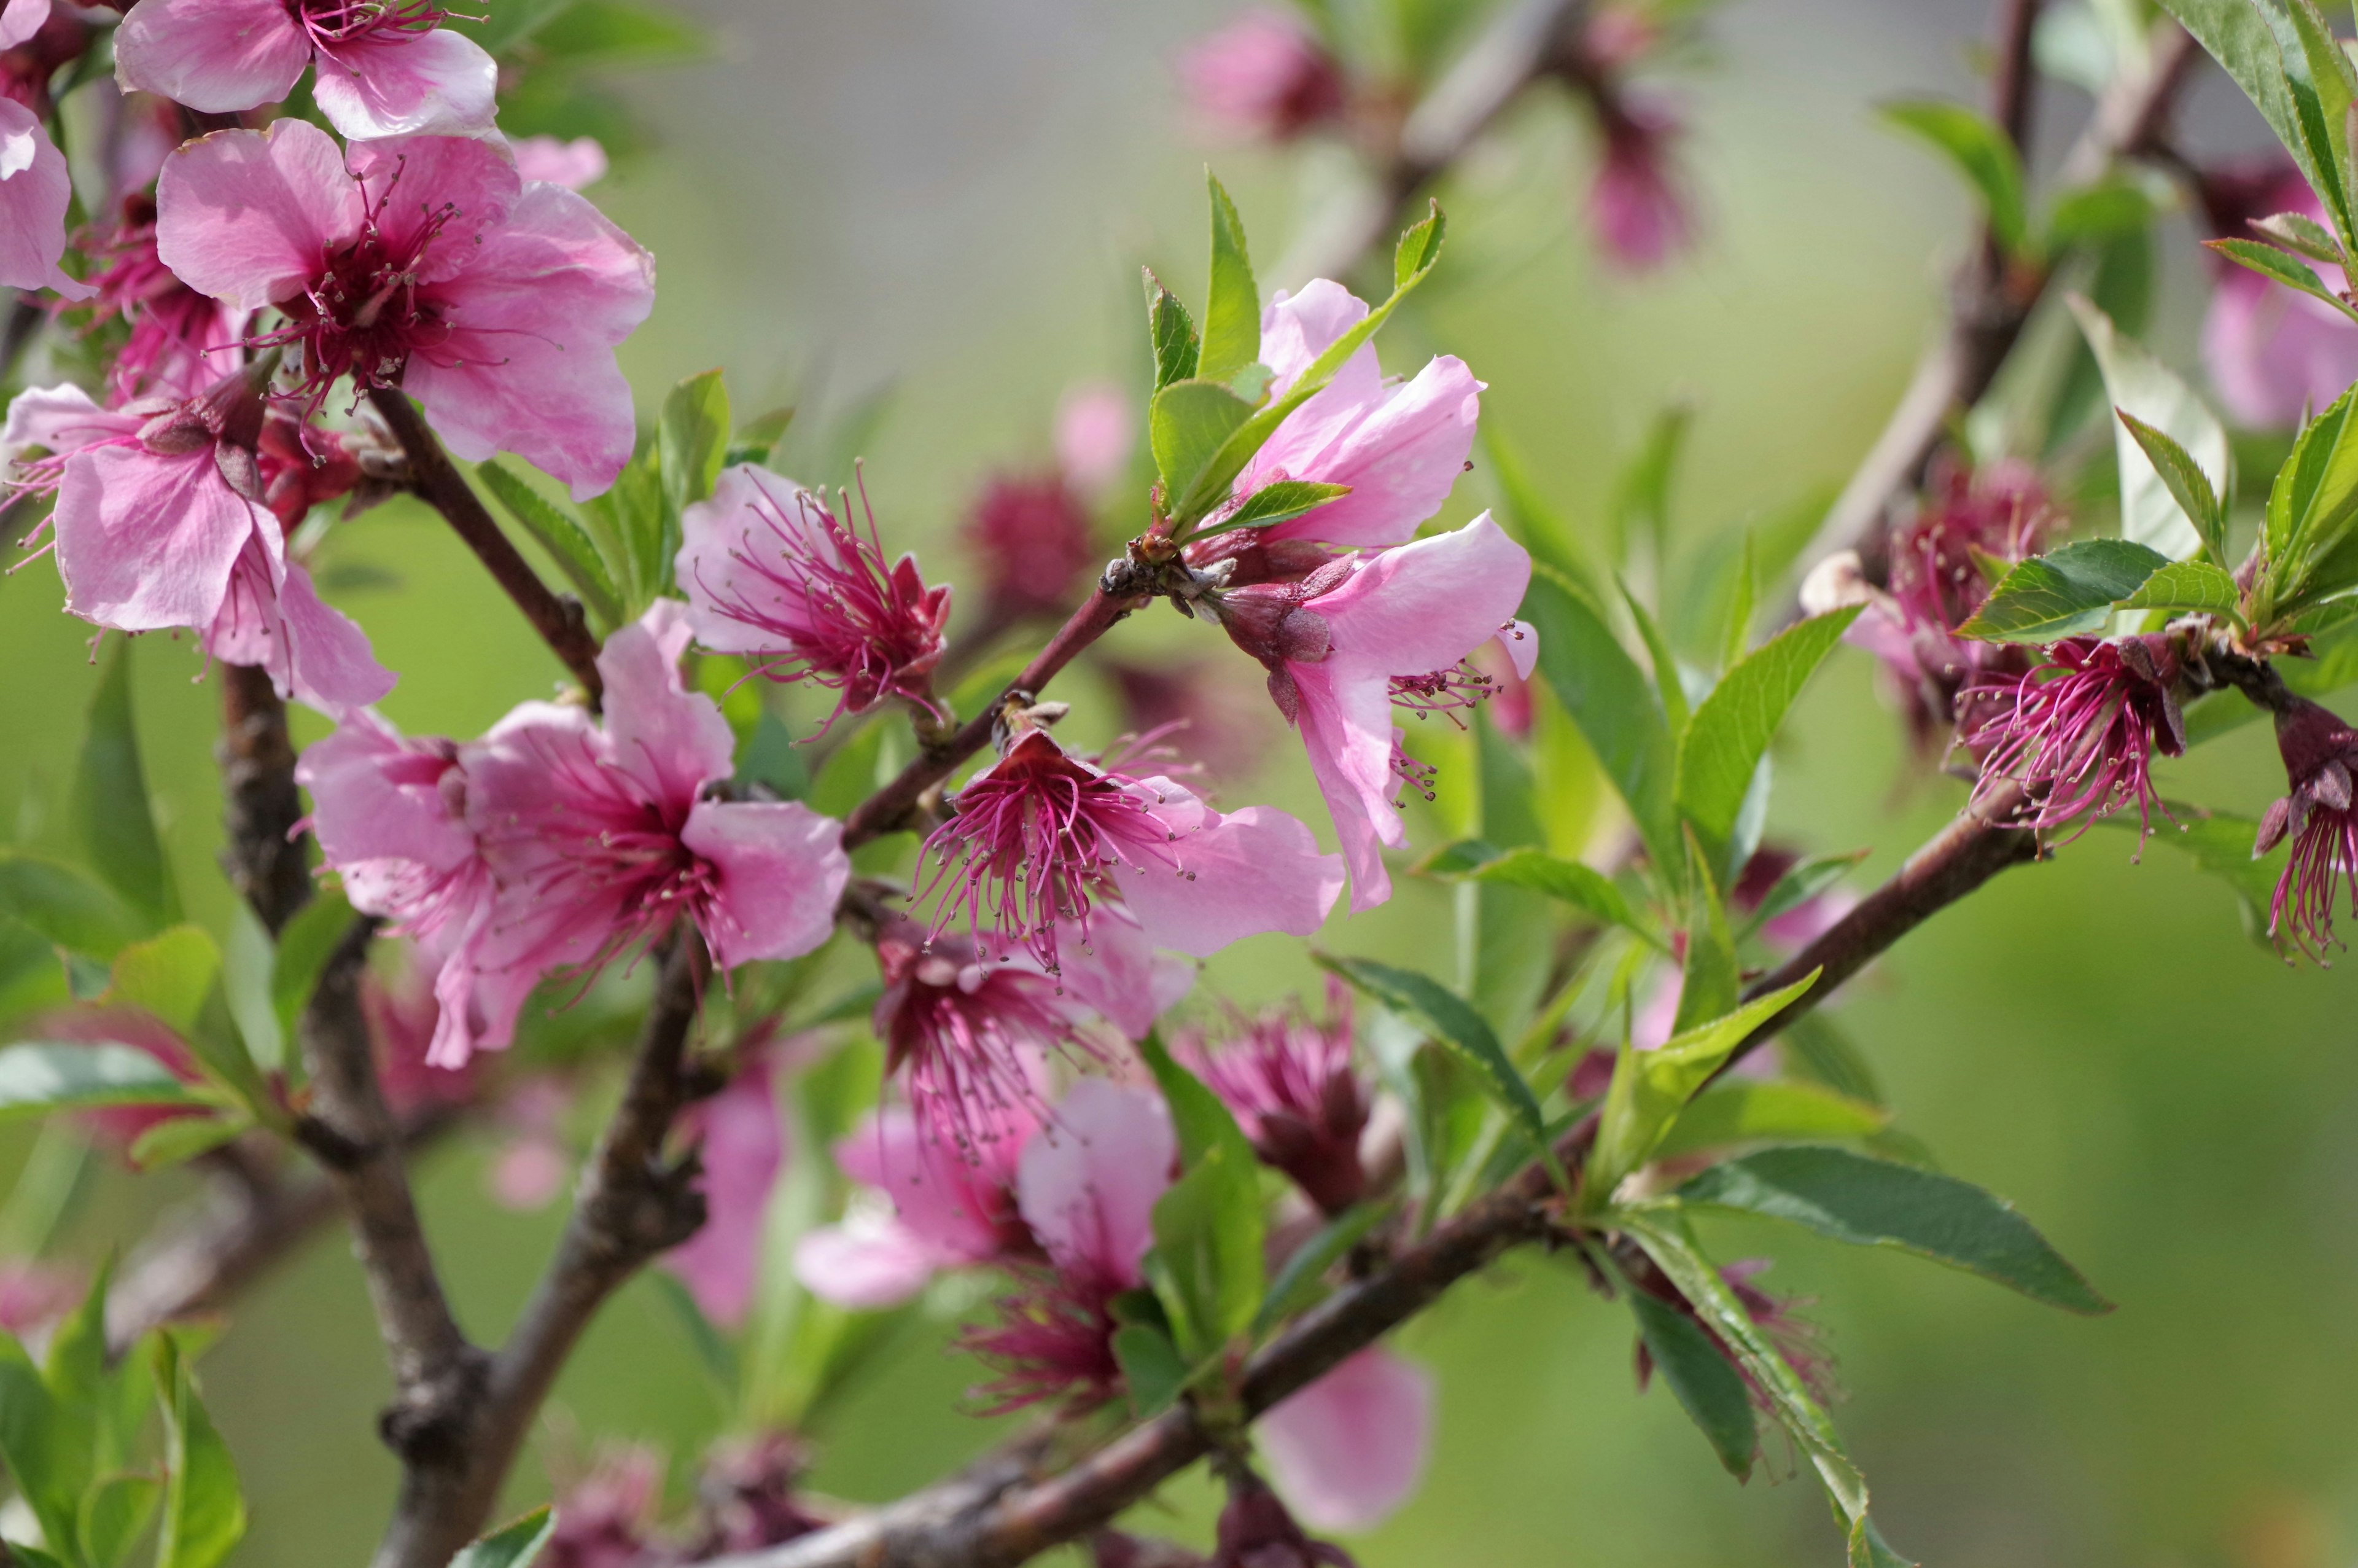
{"type": "MultiPolygon", "coordinates": [[[[2290,163],[2212,177],[2212,222],[2224,238],[2254,238],[2245,219],[2299,212],[2325,222],[2316,191],[2290,163]]],[[[2334,264],[2318,264],[2325,288],[2341,290],[2334,264]]],[[[2219,257],[2209,314],[2202,318],[2202,363],[2219,401],[2240,424],[2292,429],[2327,408],[2358,380],[2358,321],[2247,266],[2219,257]]]]}

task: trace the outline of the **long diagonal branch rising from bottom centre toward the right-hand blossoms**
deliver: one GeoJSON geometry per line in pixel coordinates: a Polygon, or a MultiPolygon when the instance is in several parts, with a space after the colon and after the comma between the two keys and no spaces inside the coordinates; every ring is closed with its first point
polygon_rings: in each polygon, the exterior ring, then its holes
{"type": "MultiPolygon", "coordinates": [[[[2000,797],[1983,813],[1959,816],[1792,962],[1754,981],[1747,995],[1766,995],[1811,969],[1823,971],[1809,995],[1754,1030],[1738,1056],[1825,1002],[1842,981],[1924,920],[2004,868],[2035,858],[2037,842],[2030,832],[1995,825],[2014,804],[2000,797]]],[[[1566,1165],[1587,1153],[1589,1139],[1594,1120],[1566,1134],[1559,1146],[1566,1165]]],[[[1542,1238],[1552,1195],[1547,1170],[1530,1165],[1368,1280],[1346,1285],[1297,1318],[1245,1365],[1247,1415],[1316,1382],[1509,1247],[1542,1238]]],[[[1016,1467],[979,1467],[946,1488],[915,1493],[769,1551],[714,1559],[705,1568],[1012,1568],[1108,1523],[1210,1452],[1214,1441],[1217,1434],[1205,1429],[1196,1410],[1179,1405],[1125,1431],[1063,1474],[1028,1478],[1016,1467]],[[1005,1485],[993,1490],[997,1476],[1005,1476],[1005,1485]]]]}

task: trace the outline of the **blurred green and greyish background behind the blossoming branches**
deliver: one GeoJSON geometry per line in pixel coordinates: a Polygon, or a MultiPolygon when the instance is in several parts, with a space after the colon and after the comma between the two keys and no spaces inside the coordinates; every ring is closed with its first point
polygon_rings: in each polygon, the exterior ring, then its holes
{"type": "MultiPolygon", "coordinates": [[[[498,0],[495,0],[498,2],[498,0]]],[[[1226,17],[1214,0],[696,0],[714,59],[620,90],[653,149],[594,198],[660,257],[653,321],[625,368],[653,408],[681,375],[724,365],[740,413],[799,403],[837,427],[870,406],[861,443],[889,545],[953,575],[946,535],[993,467],[1038,462],[1059,394],[1137,382],[1137,264],[1200,292],[1200,165],[1238,196],[1269,283],[1325,153],[1205,149],[1170,73],[1226,17]]],[[[1707,241],[1653,281],[1615,281],[1578,222],[1592,146],[1561,101],[1535,101],[1450,184],[1453,252],[1422,311],[1387,335],[1408,368],[1464,356],[1573,519],[1601,514],[1615,453],[1672,394],[1700,415],[1679,528],[1702,535],[1839,481],[1898,394],[1967,231],[1948,174],[1879,132],[1868,106],[1901,90],[1974,92],[1967,0],[1743,0],[1714,21],[1714,59],[1681,78],[1707,241]]],[[[2219,80],[2195,94],[2207,144],[2250,144],[2219,80]]],[[[2047,139],[2084,116],[2054,90],[2047,139]]],[[[2179,363],[2200,307],[2193,236],[2167,229],[2153,340],[2179,363]]],[[[1460,486],[1453,516],[1486,498],[1460,486]]],[[[413,731],[474,733],[547,693],[554,663],[408,505],[342,528],[323,582],[401,672],[384,710],[413,731]]],[[[0,823],[61,844],[64,788],[92,684],[87,630],[57,611],[35,564],[0,582],[0,823]]],[[[1203,627],[1155,613],[1115,632],[1139,658],[1236,660],[1203,627]]],[[[212,875],[212,684],[193,648],[139,646],[149,776],[193,913],[219,927],[212,875]]],[[[1872,846],[1886,872],[1955,809],[1917,778],[1901,729],[1844,653],[1780,752],[1776,837],[1872,846]]],[[[1254,679],[1240,674],[1240,700],[1254,679]]],[[[1104,691],[1078,684],[1092,733],[1104,691]]],[[[1299,759],[1229,799],[1311,821],[1299,759]]],[[[2257,813],[2280,788],[2264,731],[2165,769],[2165,790],[2257,813]]],[[[1443,830],[1417,823],[1422,844],[1443,830]]],[[[2167,837],[2167,832],[2162,835],[2167,837]]],[[[1901,1125],[1950,1170],[2018,1200],[2120,1302],[2075,1320],[1898,1254],[1728,1224],[1721,1257],[1766,1254],[1771,1283],[1818,1297],[1839,1356],[1837,1410],[1877,1518],[1938,1568],[2308,1568],[2358,1559],[2358,1052],[2344,971],[2287,969],[2242,931],[2228,894],[2155,842],[2096,832],[2056,863],[2009,872],[1851,988],[1901,1125]]],[[[1450,936],[1443,891],[1401,896],[1323,941],[1431,964],[1450,936]]],[[[1297,948],[1224,955],[1240,997],[1306,986],[1297,948]]],[[[9,1170],[21,1139],[0,1141],[9,1170]]],[[[556,1214],[483,1195],[488,1139],[422,1172],[427,1224],[460,1316],[495,1339],[523,1299],[556,1214]]],[[[127,1245],[179,1177],[108,1181],[73,1250],[127,1245]]],[[[1660,1391],[1634,1394],[1622,1309],[1568,1266],[1516,1259],[1462,1285],[1401,1344],[1441,1375],[1429,1483],[1379,1533],[1368,1568],[1488,1563],[1702,1568],[1830,1563],[1839,1554],[1806,1474],[1771,1464],[1733,1485],[1660,1391]]],[[[814,1483],[889,1497],[988,1441],[955,1412],[971,1363],[910,1342],[863,1382],[818,1448],[814,1483]]],[[[373,1436],[387,1375],[349,1250],[323,1236],[252,1290],[205,1363],[208,1396],[245,1471],[250,1568],[361,1561],[394,1467],[373,1436]]],[[[717,1429],[677,1316],[648,1283],[606,1311],[566,1375],[542,1445],[646,1438],[693,1455],[717,1429]]],[[[547,1488],[540,1457],[514,1485],[547,1488]]],[[[1205,1528],[1198,1483],[1170,1493],[1205,1528]]]]}

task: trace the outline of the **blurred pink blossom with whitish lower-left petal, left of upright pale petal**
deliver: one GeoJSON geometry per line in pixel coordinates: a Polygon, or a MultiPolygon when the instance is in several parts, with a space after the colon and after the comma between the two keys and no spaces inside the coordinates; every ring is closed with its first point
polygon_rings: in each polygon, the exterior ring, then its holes
{"type": "Polygon", "coordinates": [[[837,1306],[908,1302],[943,1269],[1035,1257],[1016,1212],[1016,1158],[1038,1129],[1028,1106],[1007,1106],[983,1137],[953,1144],[898,1106],[872,1113],[835,1146],[835,1165],[891,1205],[854,1207],[842,1224],[809,1231],[795,1278],[837,1306]]]}

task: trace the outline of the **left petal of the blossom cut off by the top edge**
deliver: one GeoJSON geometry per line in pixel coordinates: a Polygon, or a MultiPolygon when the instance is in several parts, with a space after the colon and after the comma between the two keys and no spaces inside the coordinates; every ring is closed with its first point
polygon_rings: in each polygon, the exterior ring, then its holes
{"type": "Polygon", "coordinates": [[[311,35],[285,0],[139,0],[116,28],[125,92],[205,113],[276,104],[309,64],[311,35]]]}

